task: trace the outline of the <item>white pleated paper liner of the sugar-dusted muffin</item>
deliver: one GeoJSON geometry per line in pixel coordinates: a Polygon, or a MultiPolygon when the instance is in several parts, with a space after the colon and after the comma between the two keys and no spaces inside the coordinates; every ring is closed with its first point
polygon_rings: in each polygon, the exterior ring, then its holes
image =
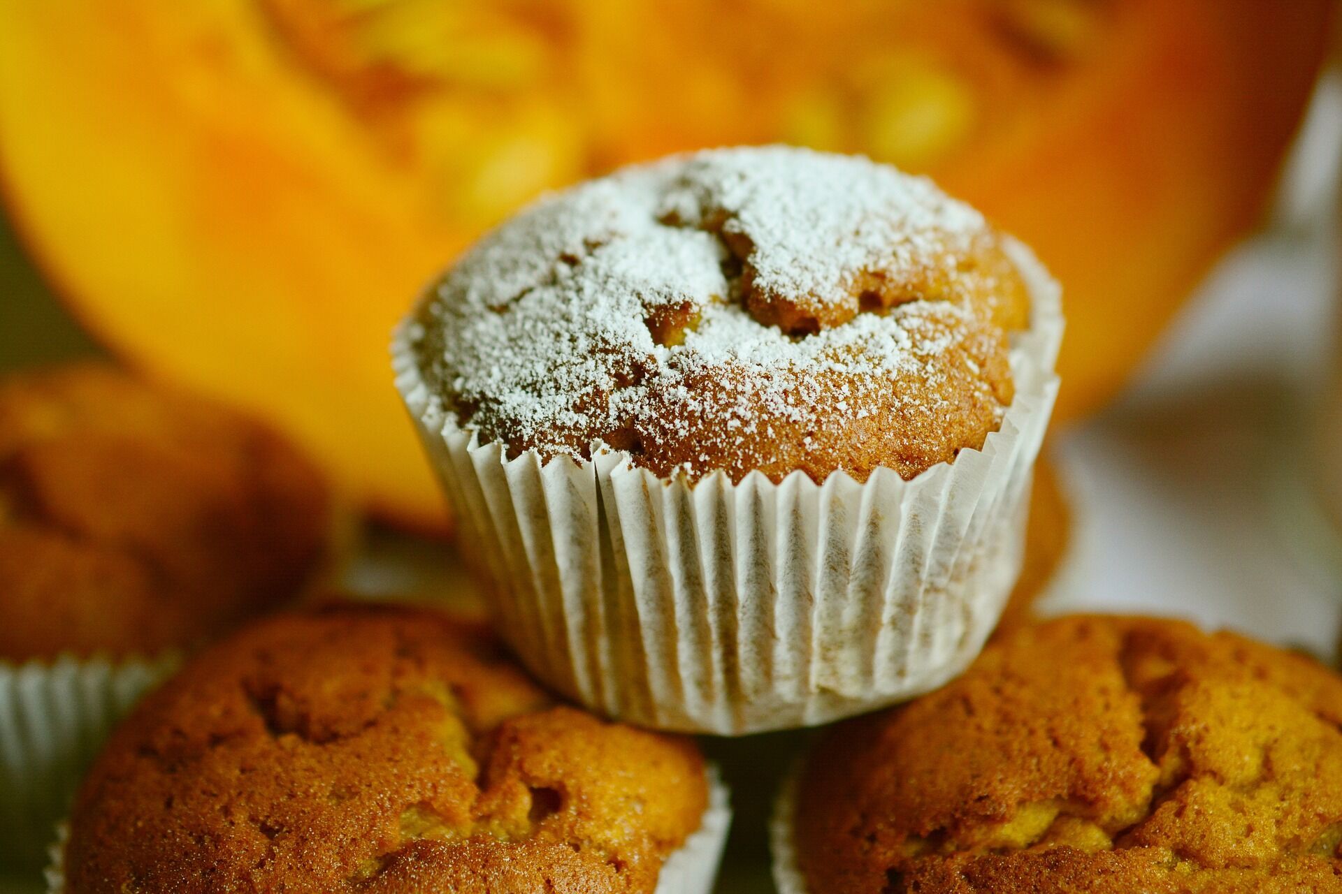
{"type": "Polygon", "coordinates": [[[1029,249],[1011,251],[1032,292],[1016,397],[981,450],[911,481],[688,484],[600,445],[590,461],[510,460],[442,410],[403,323],[397,387],[521,659],[611,717],[719,735],[829,722],[960,673],[1019,575],[1057,393],[1060,291],[1029,249]]]}

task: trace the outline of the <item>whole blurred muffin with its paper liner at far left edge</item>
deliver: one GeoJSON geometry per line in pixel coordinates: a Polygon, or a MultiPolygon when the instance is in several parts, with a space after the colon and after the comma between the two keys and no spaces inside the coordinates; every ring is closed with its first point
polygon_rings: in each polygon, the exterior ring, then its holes
{"type": "Polygon", "coordinates": [[[0,848],[40,860],[110,722],[294,596],[331,499],[267,428],[107,366],[0,379],[0,848]]]}

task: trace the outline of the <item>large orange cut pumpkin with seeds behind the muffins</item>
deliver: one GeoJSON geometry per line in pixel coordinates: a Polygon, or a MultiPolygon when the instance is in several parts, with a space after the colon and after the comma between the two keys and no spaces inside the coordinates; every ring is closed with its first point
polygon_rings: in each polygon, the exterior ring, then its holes
{"type": "Polygon", "coordinates": [[[935,176],[1067,288],[1060,417],[1106,399],[1257,220],[1329,0],[0,4],[0,177],[140,365],[442,519],[385,344],[539,190],[790,141],[935,176]]]}

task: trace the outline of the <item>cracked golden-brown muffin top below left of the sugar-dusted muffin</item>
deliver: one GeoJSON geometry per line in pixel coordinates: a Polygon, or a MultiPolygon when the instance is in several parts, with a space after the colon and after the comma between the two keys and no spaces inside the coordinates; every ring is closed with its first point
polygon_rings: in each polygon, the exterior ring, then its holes
{"type": "Polygon", "coordinates": [[[483,627],[330,606],[141,702],[79,792],[66,890],[652,891],[706,807],[691,740],[553,704],[483,627]]]}

